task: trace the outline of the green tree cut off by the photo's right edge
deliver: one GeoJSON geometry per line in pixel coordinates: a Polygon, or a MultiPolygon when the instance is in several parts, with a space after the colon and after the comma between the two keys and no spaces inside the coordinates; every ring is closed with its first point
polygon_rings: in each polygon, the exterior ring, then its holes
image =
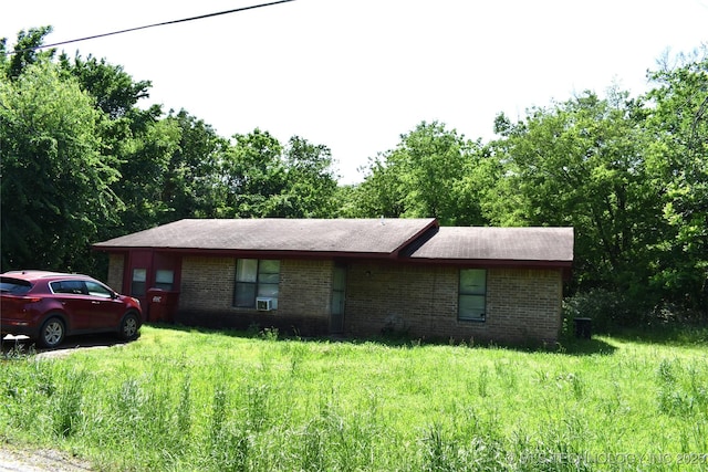
{"type": "Polygon", "coordinates": [[[708,317],[708,46],[676,60],[649,75],[648,153],[667,223],[652,282],[708,317]]]}

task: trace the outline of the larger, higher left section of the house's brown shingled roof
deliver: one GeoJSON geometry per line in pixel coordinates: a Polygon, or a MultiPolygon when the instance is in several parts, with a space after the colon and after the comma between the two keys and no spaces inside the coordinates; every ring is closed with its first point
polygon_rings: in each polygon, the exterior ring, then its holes
{"type": "Polygon", "coordinates": [[[94,244],[131,248],[394,254],[429,228],[427,219],[180,220],[94,244]]]}

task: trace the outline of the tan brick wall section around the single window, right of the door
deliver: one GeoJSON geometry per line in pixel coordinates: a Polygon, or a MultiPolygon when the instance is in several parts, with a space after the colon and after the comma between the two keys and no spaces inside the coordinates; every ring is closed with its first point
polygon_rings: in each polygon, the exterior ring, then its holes
{"type": "Polygon", "coordinates": [[[458,284],[454,266],[352,264],[345,329],[355,336],[393,331],[421,338],[509,343],[558,338],[560,270],[489,270],[485,322],[457,319],[458,284]]]}

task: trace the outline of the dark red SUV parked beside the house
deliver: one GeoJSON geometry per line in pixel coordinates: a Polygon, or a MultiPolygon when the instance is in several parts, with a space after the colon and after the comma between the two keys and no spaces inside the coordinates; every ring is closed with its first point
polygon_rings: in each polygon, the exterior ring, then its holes
{"type": "Polygon", "coordinates": [[[41,346],[64,336],[117,333],[135,339],[143,323],[140,302],[119,295],[86,275],[42,271],[0,274],[0,336],[25,335],[41,346]]]}

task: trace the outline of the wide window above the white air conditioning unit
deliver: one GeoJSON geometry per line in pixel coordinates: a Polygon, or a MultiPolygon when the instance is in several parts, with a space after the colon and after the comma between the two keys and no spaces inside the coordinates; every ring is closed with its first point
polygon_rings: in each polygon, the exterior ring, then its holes
{"type": "Polygon", "coordinates": [[[256,298],[272,298],[272,308],[278,308],[280,261],[239,259],[236,264],[233,306],[256,308],[256,298]]]}

